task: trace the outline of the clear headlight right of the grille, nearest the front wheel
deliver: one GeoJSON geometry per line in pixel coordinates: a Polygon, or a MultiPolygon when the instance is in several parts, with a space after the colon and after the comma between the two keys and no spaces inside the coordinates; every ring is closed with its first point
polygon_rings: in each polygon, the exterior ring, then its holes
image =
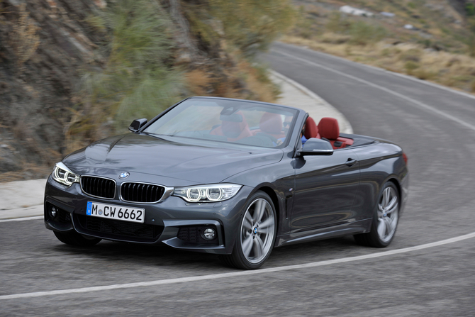
{"type": "Polygon", "coordinates": [[[223,201],[238,194],[241,187],[242,185],[236,184],[177,187],[173,191],[173,196],[179,196],[190,203],[223,201]]]}

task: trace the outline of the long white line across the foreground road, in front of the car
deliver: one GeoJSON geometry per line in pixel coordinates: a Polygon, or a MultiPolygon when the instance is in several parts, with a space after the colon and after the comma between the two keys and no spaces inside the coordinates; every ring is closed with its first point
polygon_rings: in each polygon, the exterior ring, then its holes
{"type": "Polygon", "coordinates": [[[150,281],[150,282],[113,284],[113,285],[106,285],[106,286],[99,286],[99,287],[83,287],[79,289],[60,289],[56,291],[36,291],[33,293],[2,295],[0,296],[0,300],[23,299],[23,298],[30,298],[30,297],[75,294],[75,293],[89,293],[91,291],[107,291],[111,289],[130,289],[134,287],[155,287],[157,285],[177,284],[177,283],[204,281],[204,280],[209,280],[209,279],[223,279],[223,278],[229,278],[229,277],[242,277],[242,276],[253,275],[253,274],[281,272],[281,271],[288,271],[290,269],[307,269],[311,267],[323,267],[325,265],[333,265],[333,264],[338,264],[338,263],[374,259],[376,257],[387,257],[389,255],[397,255],[400,253],[423,250],[427,248],[437,247],[440,245],[447,245],[449,243],[456,243],[456,242],[474,238],[474,237],[475,237],[475,232],[469,233],[467,235],[460,235],[459,237],[455,237],[455,238],[437,241],[434,243],[427,243],[425,245],[416,245],[415,247],[391,250],[391,251],[386,251],[386,252],[376,252],[370,255],[359,255],[357,257],[344,257],[342,259],[311,262],[311,263],[306,263],[306,264],[301,264],[301,265],[286,265],[284,267],[269,267],[268,269],[255,269],[252,271],[237,271],[237,272],[222,273],[222,274],[209,274],[209,275],[201,275],[198,277],[179,277],[177,279],[158,279],[158,280],[150,281]]]}

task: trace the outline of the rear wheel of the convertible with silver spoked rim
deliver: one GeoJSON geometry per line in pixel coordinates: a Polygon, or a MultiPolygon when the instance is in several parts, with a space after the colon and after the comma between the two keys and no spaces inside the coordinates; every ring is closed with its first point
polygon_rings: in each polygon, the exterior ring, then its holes
{"type": "Polygon", "coordinates": [[[399,218],[400,196],[393,182],[386,182],[376,204],[371,231],[353,235],[360,245],[386,248],[396,234],[399,218]]]}

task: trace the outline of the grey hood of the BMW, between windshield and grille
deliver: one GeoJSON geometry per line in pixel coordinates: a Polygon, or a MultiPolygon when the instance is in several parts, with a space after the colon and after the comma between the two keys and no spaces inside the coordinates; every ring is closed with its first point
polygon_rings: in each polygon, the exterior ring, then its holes
{"type": "Polygon", "coordinates": [[[217,146],[220,148],[126,134],[92,143],[68,155],[62,162],[79,174],[102,175],[101,169],[104,169],[108,171],[106,174],[111,170],[114,173],[129,172],[130,180],[133,180],[133,172],[137,172],[210,184],[222,182],[247,169],[279,162],[284,155],[278,149],[242,150],[223,148],[222,144],[217,146]]]}

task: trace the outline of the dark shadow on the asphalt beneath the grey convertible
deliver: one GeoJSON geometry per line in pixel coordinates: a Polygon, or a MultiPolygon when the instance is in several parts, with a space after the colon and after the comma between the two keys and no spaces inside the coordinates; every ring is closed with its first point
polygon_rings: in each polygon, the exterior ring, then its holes
{"type": "MultiPolygon", "coordinates": [[[[102,240],[99,244],[90,248],[57,244],[52,250],[78,255],[83,258],[89,257],[89,260],[103,260],[135,267],[138,265],[170,268],[199,267],[206,270],[220,268],[221,272],[226,269],[225,265],[220,262],[218,255],[177,250],[167,245],[140,245],[102,240]]],[[[296,265],[361,255],[362,253],[369,253],[371,250],[374,250],[374,248],[364,248],[357,245],[352,236],[300,243],[274,248],[272,255],[263,267],[296,265]],[[367,250],[362,252],[362,249],[367,250]]]]}

